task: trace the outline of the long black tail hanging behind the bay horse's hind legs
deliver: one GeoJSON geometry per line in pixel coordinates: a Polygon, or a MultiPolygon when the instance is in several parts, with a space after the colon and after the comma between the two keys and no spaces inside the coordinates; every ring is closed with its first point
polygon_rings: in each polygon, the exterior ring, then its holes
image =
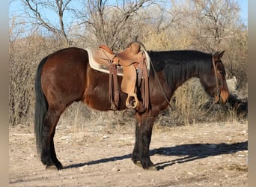
{"type": "Polygon", "coordinates": [[[43,94],[42,87],[41,87],[41,72],[42,67],[47,60],[43,58],[40,61],[40,64],[37,67],[37,74],[35,79],[35,112],[34,112],[34,135],[36,137],[36,144],[37,144],[37,153],[40,155],[42,150],[42,128],[43,128],[43,119],[46,116],[46,112],[48,110],[48,102],[46,101],[46,97],[43,94]]]}

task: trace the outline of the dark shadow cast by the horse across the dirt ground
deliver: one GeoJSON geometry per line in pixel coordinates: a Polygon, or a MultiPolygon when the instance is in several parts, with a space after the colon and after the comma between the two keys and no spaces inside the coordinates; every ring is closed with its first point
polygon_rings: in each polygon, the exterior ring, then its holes
{"type": "MultiPolygon", "coordinates": [[[[248,150],[248,141],[234,144],[182,144],[175,147],[159,147],[157,149],[150,150],[150,156],[180,156],[179,159],[156,163],[157,170],[162,170],[165,167],[174,165],[175,163],[192,162],[196,159],[204,159],[209,156],[218,156],[222,154],[232,154],[243,150],[248,150]]],[[[124,156],[113,156],[90,162],[68,165],[65,168],[79,168],[84,165],[97,165],[106,162],[115,162],[118,160],[130,159],[131,157],[132,154],[127,154],[124,156]]]]}

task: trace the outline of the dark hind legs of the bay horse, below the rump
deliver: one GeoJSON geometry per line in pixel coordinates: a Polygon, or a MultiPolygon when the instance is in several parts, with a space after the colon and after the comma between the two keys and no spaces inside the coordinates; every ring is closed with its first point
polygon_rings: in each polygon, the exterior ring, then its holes
{"type": "Polygon", "coordinates": [[[56,110],[55,108],[50,108],[47,111],[46,117],[43,121],[42,127],[42,153],[41,161],[46,168],[55,165],[58,170],[63,169],[61,162],[58,161],[55,153],[54,147],[54,135],[55,127],[61,116],[62,110],[56,110]]]}

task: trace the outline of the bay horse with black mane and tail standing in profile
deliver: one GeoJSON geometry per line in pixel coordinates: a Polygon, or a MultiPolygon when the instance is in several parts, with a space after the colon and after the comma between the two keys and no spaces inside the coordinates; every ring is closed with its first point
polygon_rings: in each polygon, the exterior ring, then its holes
{"type": "MultiPolygon", "coordinates": [[[[168,107],[174,91],[197,77],[204,90],[216,102],[228,100],[228,86],[222,52],[213,55],[198,51],[148,51],[151,59],[149,79],[150,107],[135,109],[135,145],[132,162],[144,169],[155,168],[149,148],[153,123],[160,111],[168,107]]],[[[120,87],[122,77],[118,76],[120,87]]],[[[46,168],[63,169],[55,153],[54,135],[58,120],[67,106],[82,101],[98,111],[109,111],[109,74],[93,70],[88,52],[75,47],[61,49],[40,61],[35,80],[34,132],[37,152],[46,168]]],[[[120,93],[119,110],[126,108],[127,93],[120,93]]]]}

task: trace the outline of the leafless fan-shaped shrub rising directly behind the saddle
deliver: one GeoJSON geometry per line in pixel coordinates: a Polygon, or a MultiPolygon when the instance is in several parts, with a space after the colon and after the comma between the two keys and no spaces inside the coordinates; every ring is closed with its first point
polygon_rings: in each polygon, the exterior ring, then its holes
{"type": "MultiPolygon", "coordinates": [[[[114,48],[117,43],[124,40],[124,33],[129,31],[132,22],[132,15],[142,10],[143,6],[152,3],[152,0],[123,1],[121,6],[109,6],[107,0],[88,0],[88,19],[84,22],[94,32],[97,42],[105,43],[114,48]],[[128,29],[126,31],[126,29],[128,29]],[[125,31],[125,32],[124,32],[125,31]]],[[[84,16],[86,17],[86,16],[84,16]]],[[[134,23],[134,27],[137,26],[134,23]]],[[[133,36],[135,37],[135,36],[133,36]]]]}

